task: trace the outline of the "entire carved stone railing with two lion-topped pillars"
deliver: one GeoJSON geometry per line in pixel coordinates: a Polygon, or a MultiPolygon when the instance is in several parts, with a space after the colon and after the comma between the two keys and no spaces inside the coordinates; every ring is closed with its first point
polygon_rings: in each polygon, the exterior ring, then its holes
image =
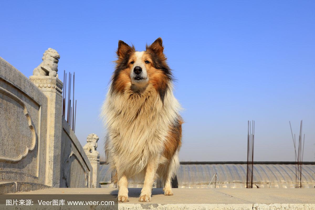
{"type": "Polygon", "coordinates": [[[59,58],[46,50],[28,79],[0,57],[0,192],[99,186],[97,135],[84,151],[62,117],[59,58]]]}

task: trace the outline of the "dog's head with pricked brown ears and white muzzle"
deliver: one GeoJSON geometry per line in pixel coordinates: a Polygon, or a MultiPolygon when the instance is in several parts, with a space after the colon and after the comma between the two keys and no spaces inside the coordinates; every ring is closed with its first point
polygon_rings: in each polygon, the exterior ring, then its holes
{"type": "Polygon", "coordinates": [[[146,51],[136,51],[123,41],[118,42],[116,70],[112,77],[112,91],[123,92],[126,86],[137,91],[154,85],[163,100],[164,92],[172,80],[171,70],[163,54],[162,39],[158,38],[146,51]],[[163,97],[162,97],[163,95],[163,97]]]}

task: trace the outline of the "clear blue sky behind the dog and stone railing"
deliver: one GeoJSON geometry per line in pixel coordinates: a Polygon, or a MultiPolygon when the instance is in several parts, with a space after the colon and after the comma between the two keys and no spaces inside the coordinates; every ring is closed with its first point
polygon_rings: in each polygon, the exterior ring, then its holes
{"type": "Polygon", "coordinates": [[[0,56],[29,77],[51,47],[76,73],[76,135],[85,144],[114,69],[118,40],[162,37],[184,111],[181,161],[294,161],[289,120],[315,160],[314,1],[3,1],[0,56]]]}

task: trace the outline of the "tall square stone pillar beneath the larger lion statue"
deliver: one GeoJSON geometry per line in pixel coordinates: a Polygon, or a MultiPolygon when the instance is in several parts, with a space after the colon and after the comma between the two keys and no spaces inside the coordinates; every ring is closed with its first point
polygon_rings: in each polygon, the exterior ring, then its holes
{"type": "Polygon", "coordinates": [[[30,80],[48,99],[46,145],[46,157],[48,162],[46,162],[45,184],[52,187],[59,187],[63,83],[54,76],[30,76],[30,80]]]}

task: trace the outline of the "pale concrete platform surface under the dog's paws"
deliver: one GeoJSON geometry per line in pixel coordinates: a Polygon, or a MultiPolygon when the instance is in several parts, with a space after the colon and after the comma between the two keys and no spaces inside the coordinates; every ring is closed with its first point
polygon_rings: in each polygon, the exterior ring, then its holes
{"type": "MultiPolygon", "coordinates": [[[[129,202],[119,209],[314,209],[315,189],[173,189],[152,191],[151,202],[139,202],[140,188],[129,188],[129,202]]],[[[111,194],[117,188],[51,188],[19,194],[111,194]]]]}

